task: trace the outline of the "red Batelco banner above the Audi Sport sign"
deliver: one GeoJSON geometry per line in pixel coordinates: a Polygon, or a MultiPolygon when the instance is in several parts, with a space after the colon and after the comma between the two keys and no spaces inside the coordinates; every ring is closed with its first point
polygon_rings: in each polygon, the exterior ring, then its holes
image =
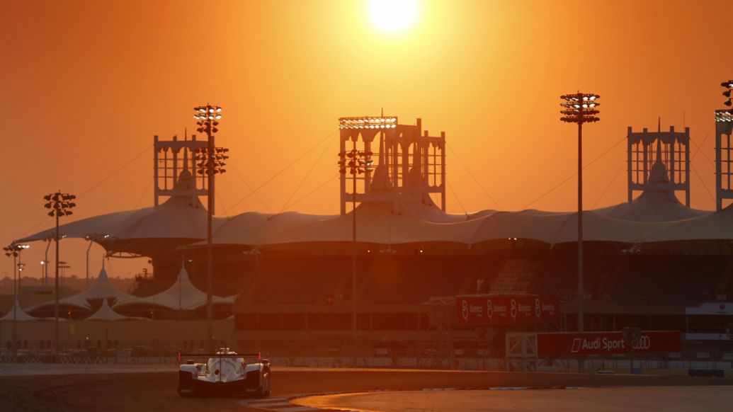
{"type": "Polygon", "coordinates": [[[470,295],[456,297],[458,325],[507,325],[557,322],[560,301],[537,295],[470,295]]]}

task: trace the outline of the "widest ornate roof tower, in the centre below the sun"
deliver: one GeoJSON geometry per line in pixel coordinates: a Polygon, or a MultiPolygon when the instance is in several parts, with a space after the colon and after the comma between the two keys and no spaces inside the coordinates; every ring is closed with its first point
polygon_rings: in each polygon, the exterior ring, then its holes
{"type": "MultiPolygon", "coordinates": [[[[446,210],[446,133],[430,136],[422,131],[421,119],[416,125],[400,125],[397,117],[342,117],[341,161],[347,150],[356,150],[372,161],[364,174],[356,176],[356,202],[392,202],[430,205],[446,210]],[[434,195],[433,198],[431,195],[434,195]],[[438,202],[439,205],[436,205],[438,202]]],[[[352,176],[341,175],[341,214],[353,194],[347,191],[352,176]]]]}

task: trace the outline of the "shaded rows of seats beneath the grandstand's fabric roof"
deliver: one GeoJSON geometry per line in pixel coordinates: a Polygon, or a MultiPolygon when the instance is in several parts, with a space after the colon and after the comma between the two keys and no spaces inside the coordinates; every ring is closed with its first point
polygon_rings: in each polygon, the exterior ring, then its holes
{"type": "MultiPolygon", "coordinates": [[[[252,304],[314,304],[349,300],[350,257],[265,260],[244,296],[252,304]]],[[[695,306],[726,288],[725,257],[588,255],[586,298],[622,305],[695,306]]],[[[419,304],[431,297],[473,293],[577,296],[572,255],[533,257],[360,257],[358,296],[364,304],[419,304]],[[481,281],[481,282],[476,282],[481,281]]]]}

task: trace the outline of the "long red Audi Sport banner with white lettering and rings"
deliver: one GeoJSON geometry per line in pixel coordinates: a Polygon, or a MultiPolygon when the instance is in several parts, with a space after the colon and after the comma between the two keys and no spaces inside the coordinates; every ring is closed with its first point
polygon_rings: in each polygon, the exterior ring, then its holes
{"type": "Polygon", "coordinates": [[[622,332],[537,334],[537,356],[600,355],[605,353],[668,353],[682,350],[679,331],[642,331],[631,342],[622,332]],[[630,345],[629,345],[630,343],[630,345]]]}

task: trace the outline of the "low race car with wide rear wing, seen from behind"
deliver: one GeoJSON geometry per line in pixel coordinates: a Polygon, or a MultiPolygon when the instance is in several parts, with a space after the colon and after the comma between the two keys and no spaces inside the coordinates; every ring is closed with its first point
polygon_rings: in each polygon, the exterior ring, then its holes
{"type": "Polygon", "coordinates": [[[178,394],[182,397],[196,396],[242,396],[266,397],[270,394],[270,360],[260,353],[236,353],[229,347],[222,347],[213,355],[178,353],[178,394]],[[197,363],[196,358],[206,358],[206,363],[197,363]],[[246,358],[256,361],[246,362],[246,358]]]}

